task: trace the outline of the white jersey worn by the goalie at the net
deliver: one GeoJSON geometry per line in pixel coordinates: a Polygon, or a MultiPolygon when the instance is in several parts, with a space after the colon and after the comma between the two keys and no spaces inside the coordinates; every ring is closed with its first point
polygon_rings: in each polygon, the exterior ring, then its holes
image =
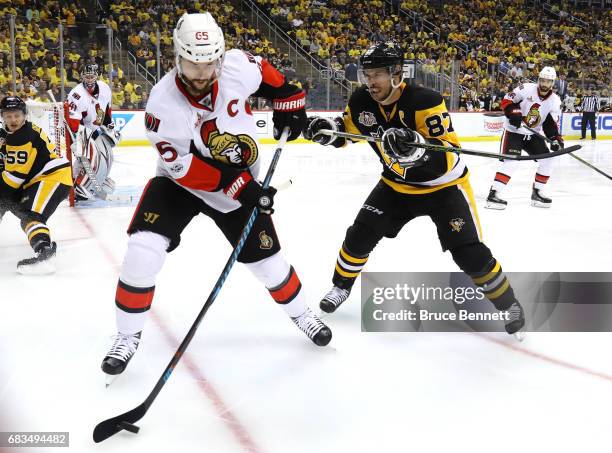
{"type": "MultiPolygon", "coordinates": [[[[112,93],[110,87],[101,80],[96,82],[98,89],[94,90],[94,94],[89,94],[87,88],[79,83],[75,86],[68,97],[68,122],[73,123],[79,121],[92,131],[100,129],[104,117],[110,114],[110,106],[112,101],[112,93]],[[72,120],[72,121],[71,121],[72,120]]],[[[77,126],[78,127],[78,126],[77,126]]]]}

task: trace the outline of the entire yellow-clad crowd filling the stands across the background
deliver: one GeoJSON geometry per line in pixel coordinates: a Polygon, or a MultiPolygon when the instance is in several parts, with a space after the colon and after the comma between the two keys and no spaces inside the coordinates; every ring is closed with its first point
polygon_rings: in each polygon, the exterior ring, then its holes
{"type": "MultiPolygon", "coordinates": [[[[73,1],[0,0],[2,17],[17,17],[17,94],[48,100],[47,90],[60,99],[57,20],[64,28],[64,82],[69,90],[80,81],[80,68],[96,62],[101,79],[111,85],[113,108],[144,108],[149,84],[127,77],[113,65],[111,80],[105,43],[95,39],[84,4],[73,1]],[[55,21],[55,22],[50,22],[55,21]]],[[[303,49],[346,80],[357,84],[357,60],[374,41],[394,39],[405,58],[430,74],[456,76],[460,110],[496,110],[503,95],[519,81],[535,80],[544,65],[555,66],[567,88],[566,110],[596,88],[608,98],[612,77],[612,12],[570,9],[560,2],[545,14],[528,0],[256,0],[303,49]],[[408,14],[400,11],[407,11],[408,14]],[[440,20],[444,18],[444,21],[440,20]],[[584,23],[577,25],[574,18],[584,23]],[[426,25],[427,24],[427,25],[426,25]],[[432,24],[439,24],[431,27],[432,24]]],[[[94,21],[110,26],[125,50],[152,74],[174,66],[172,30],[184,12],[209,11],[224,30],[227,48],[241,48],[267,58],[298,86],[312,89],[312,78],[299,77],[286,54],[229,2],[179,0],[110,0],[94,21]],[[159,43],[158,43],[159,40],[159,43]]],[[[0,92],[11,91],[8,20],[0,20],[0,92]]],[[[449,84],[442,89],[450,97],[449,84]]],[[[609,104],[609,103],[608,103],[609,104]]]]}

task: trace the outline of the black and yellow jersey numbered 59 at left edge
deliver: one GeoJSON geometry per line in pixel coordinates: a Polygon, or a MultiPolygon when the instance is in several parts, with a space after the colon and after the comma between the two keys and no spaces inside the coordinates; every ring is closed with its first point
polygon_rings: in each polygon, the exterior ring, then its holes
{"type": "Polygon", "coordinates": [[[70,162],[55,152],[55,145],[37,125],[26,121],[5,140],[0,148],[4,156],[2,183],[12,189],[27,189],[42,180],[72,185],[70,162]]]}

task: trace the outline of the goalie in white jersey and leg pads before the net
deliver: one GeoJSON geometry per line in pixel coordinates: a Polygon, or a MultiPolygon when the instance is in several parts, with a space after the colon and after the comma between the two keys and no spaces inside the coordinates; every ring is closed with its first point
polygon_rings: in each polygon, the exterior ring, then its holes
{"type": "Polygon", "coordinates": [[[109,173],[121,137],[112,121],[111,89],[98,80],[98,65],[85,65],[81,77],[64,104],[74,188],[77,199],[104,198],[115,188],[109,173]]]}

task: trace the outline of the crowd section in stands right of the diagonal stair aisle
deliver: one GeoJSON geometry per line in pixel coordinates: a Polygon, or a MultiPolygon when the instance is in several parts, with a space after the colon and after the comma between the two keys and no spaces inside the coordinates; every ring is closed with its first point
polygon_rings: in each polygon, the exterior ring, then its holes
{"type": "Polygon", "coordinates": [[[570,5],[563,2],[548,15],[539,2],[528,0],[257,3],[302,48],[322,63],[329,59],[331,67],[344,70],[351,81],[356,81],[355,62],[369,43],[393,39],[403,46],[406,59],[418,60],[426,71],[450,75],[453,66],[458,68],[460,108],[466,110],[480,104],[495,108],[501,93],[521,80],[535,80],[545,65],[555,66],[571,81],[570,98],[591,87],[610,95],[609,8],[571,9],[570,14],[570,5]],[[588,27],[577,25],[571,16],[582,17],[588,27]]]}

